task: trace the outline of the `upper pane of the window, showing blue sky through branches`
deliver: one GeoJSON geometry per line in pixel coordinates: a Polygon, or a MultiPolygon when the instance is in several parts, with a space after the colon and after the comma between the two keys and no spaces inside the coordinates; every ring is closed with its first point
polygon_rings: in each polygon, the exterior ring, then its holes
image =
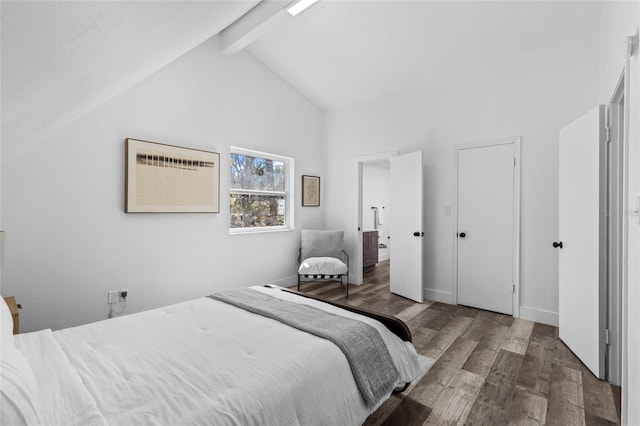
{"type": "Polygon", "coordinates": [[[285,163],[231,153],[231,188],[285,191],[285,163]]]}

